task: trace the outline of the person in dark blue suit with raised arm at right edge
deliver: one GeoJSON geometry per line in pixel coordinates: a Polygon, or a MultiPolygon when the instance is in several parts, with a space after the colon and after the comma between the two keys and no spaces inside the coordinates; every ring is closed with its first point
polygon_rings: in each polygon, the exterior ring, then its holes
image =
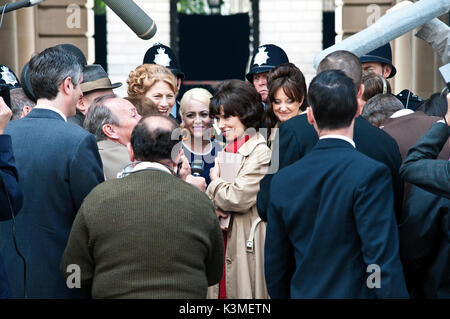
{"type": "Polygon", "coordinates": [[[436,159],[448,147],[448,123],[450,108],[445,120],[434,123],[408,151],[400,167],[400,175],[414,184],[399,227],[401,254],[409,288],[421,298],[450,298],[450,159],[436,159]]]}

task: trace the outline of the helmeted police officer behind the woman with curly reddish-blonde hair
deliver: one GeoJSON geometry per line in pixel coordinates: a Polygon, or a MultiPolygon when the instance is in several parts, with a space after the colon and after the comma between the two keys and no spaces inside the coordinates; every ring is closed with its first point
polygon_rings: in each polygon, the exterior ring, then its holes
{"type": "MultiPolygon", "coordinates": [[[[173,53],[171,48],[161,43],[155,43],[145,53],[144,61],[142,63],[158,64],[168,68],[177,77],[178,91],[180,91],[181,83],[184,80],[184,73],[181,72],[177,57],[175,56],[175,53],[173,53]]],[[[176,100],[174,107],[172,107],[172,110],[170,111],[170,115],[174,117],[178,123],[181,123],[179,110],[180,102],[176,100]]]]}

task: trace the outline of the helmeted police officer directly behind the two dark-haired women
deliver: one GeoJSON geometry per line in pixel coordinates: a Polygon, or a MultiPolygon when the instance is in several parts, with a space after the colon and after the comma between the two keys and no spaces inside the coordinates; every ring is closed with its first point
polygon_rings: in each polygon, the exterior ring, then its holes
{"type": "Polygon", "coordinates": [[[286,52],[274,44],[265,44],[258,47],[252,57],[250,70],[246,75],[256,91],[261,94],[262,101],[267,103],[269,91],[267,89],[267,75],[273,68],[289,62],[286,52]]]}

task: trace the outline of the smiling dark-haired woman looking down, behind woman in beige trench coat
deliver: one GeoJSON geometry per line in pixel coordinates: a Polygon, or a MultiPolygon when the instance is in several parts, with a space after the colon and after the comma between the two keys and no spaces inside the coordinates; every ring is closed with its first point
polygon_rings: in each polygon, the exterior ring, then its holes
{"type": "Polygon", "coordinates": [[[284,63],[269,72],[269,103],[265,124],[267,144],[271,146],[280,123],[306,111],[306,82],[302,71],[292,63],[284,63]]]}

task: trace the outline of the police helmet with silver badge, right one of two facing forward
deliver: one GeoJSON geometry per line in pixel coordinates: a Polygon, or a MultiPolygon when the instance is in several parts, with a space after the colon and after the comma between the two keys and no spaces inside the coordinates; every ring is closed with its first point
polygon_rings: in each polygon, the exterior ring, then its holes
{"type": "Polygon", "coordinates": [[[268,72],[280,64],[289,62],[286,52],[274,44],[265,44],[258,47],[258,51],[252,57],[250,70],[246,78],[253,81],[253,75],[268,72]]]}

